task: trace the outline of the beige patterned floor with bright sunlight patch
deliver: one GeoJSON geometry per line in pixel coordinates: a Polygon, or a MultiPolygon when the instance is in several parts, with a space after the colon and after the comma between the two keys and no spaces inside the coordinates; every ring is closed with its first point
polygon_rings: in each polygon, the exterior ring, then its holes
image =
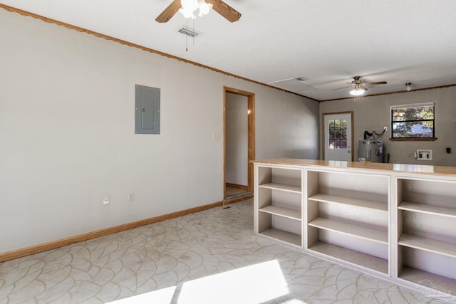
{"type": "Polygon", "coordinates": [[[250,199],[6,261],[0,303],[435,300],[253,236],[252,226],[250,199]]]}

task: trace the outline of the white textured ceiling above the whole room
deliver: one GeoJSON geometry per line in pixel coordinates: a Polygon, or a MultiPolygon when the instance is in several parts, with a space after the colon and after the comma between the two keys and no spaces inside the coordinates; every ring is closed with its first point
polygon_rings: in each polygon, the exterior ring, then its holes
{"type": "Polygon", "coordinates": [[[456,84],[455,0],[226,0],[242,14],[195,20],[155,17],[171,0],[0,0],[0,4],[185,58],[316,100],[350,97],[361,75],[367,95],[456,84]],[[189,21],[189,26],[193,22],[189,21]],[[304,81],[294,80],[304,78],[304,81]]]}

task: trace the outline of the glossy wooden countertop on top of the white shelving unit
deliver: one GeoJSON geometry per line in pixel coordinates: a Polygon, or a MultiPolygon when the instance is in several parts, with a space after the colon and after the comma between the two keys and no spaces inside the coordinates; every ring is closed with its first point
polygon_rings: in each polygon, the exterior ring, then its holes
{"type": "Polygon", "coordinates": [[[337,160],[276,158],[254,160],[257,164],[279,164],[286,166],[331,167],[366,169],[388,172],[404,172],[456,177],[456,167],[430,166],[427,164],[383,164],[379,162],[343,162],[337,160]]]}

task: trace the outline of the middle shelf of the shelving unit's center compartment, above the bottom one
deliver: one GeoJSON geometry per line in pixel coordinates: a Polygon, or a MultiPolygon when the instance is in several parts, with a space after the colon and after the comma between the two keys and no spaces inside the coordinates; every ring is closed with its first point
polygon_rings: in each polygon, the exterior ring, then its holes
{"type": "Polygon", "coordinates": [[[314,221],[311,221],[309,223],[309,226],[313,226],[319,229],[336,231],[341,234],[348,234],[350,236],[356,236],[358,238],[375,241],[377,243],[388,244],[388,231],[381,231],[378,229],[347,224],[341,221],[334,221],[332,219],[323,219],[321,217],[314,219],[314,221]]]}

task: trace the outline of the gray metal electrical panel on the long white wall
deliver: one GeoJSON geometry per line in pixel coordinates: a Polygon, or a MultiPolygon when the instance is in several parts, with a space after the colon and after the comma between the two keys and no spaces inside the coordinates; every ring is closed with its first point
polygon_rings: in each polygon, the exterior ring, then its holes
{"type": "Polygon", "coordinates": [[[136,85],[135,133],[160,134],[160,89],[136,85]]]}

